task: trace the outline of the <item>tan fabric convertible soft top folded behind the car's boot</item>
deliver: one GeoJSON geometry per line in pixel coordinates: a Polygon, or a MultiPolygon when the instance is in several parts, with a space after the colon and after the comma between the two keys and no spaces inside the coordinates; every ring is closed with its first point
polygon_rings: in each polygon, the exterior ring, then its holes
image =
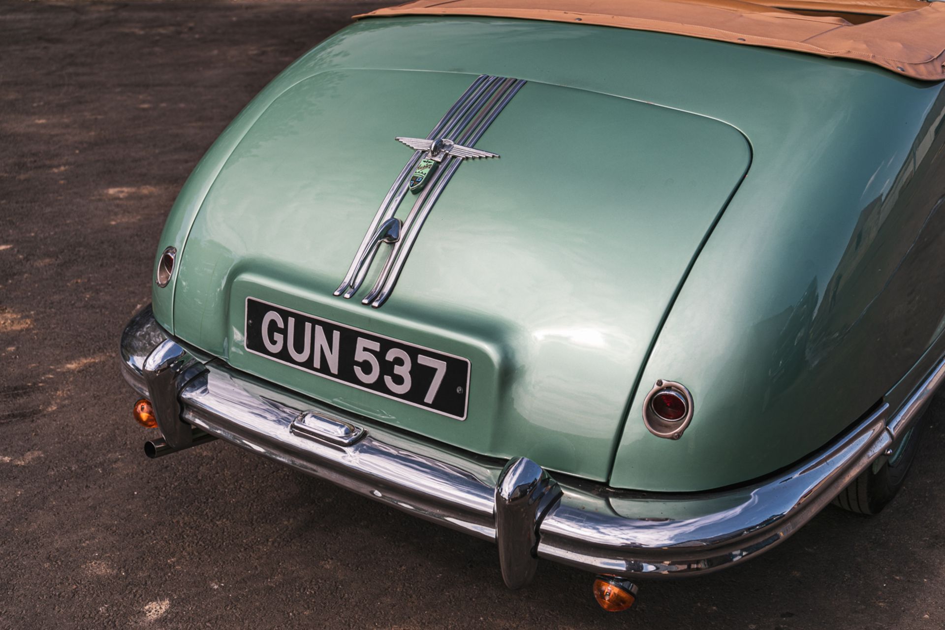
{"type": "Polygon", "coordinates": [[[417,0],[355,17],[386,15],[478,15],[653,30],[868,61],[925,81],[945,79],[945,2],[417,0]],[[863,14],[885,17],[854,20],[858,24],[840,17],[863,14]]]}

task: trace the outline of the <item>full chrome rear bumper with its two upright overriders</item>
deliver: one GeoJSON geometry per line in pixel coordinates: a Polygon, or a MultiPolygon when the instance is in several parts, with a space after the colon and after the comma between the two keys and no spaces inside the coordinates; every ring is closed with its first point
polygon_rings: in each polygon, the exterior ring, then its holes
{"type": "Polygon", "coordinates": [[[762,553],[884,456],[945,374],[945,364],[937,364],[898,414],[880,405],[794,468],[742,487],[679,495],[557,483],[525,458],[503,466],[366,426],[185,349],[150,307],[129,322],[121,358],[126,380],[152,401],[170,447],[186,448],[197,427],[422,519],[495,540],[510,587],[531,579],[536,557],[596,573],[665,577],[762,553]],[[315,423],[302,426],[303,416],[315,423]]]}

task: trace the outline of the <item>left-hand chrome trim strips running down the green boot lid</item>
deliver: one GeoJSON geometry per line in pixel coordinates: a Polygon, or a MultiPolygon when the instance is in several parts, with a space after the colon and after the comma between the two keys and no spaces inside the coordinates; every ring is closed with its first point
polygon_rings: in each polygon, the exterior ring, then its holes
{"type": "MultiPolygon", "coordinates": [[[[439,122],[433,128],[433,130],[427,134],[427,140],[435,140],[444,128],[453,123],[455,118],[462,116],[469,108],[470,102],[476,98],[477,94],[479,94],[482,89],[488,87],[490,83],[494,82],[494,78],[495,77],[488,77],[487,75],[480,75],[479,77],[476,77],[476,79],[472,81],[472,85],[466,89],[466,92],[464,92],[456,100],[456,102],[453,104],[453,107],[451,107],[443,115],[443,117],[439,119],[439,122]]],[[[401,174],[397,176],[397,179],[394,179],[394,183],[391,184],[390,190],[388,190],[387,195],[384,196],[384,201],[381,202],[380,208],[378,208],[377,212],[374,213],[374,218],[370,223],[367,233],[364,235],[364,239],[361,241],[360,247],[357,249],[357,253],[354,255],[352,264],[348,268],[348,273],[345,274],[344,281],[342,281],[335,290],[335,296],[340,296],[342,292],[345,292],[346,289],[353,287],[350,291],[351,295],[345,295],[346,298],[351,298],[351,296],[354,295],[354,292],[357,291],[361,282],[364,281],[364,276],[367,274],[367,269],[373,260],[373,254],[370,256],[366,255],[370,245],[371,235],[377,231],[381,223],[387,221],[387,219],[397,212],[397,207],[400,206],[401,201],[407,192],[407,179],[414,167],[417,165],[417,161],[420,160],[421,155],[422,151],[414,151],[413,156],[407,160],[404,170],[402,170],[401,174]],[[356,277],[360,278],[360,281],[354,281],[356,277]],[[352,281],[354,282],[352,283],[352,281]]]]}

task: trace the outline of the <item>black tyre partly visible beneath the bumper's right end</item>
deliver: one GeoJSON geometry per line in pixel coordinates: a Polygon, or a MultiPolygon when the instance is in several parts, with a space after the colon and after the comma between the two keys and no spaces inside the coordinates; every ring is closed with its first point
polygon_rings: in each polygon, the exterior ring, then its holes
{"type": "Polygon", "coordinates": [[[915,426],[902,436],[902,442],[893,445],[892,456],[886,458],[882,465],[874,464],[861,472],[837,495],[833,504],[857,514],[879,514],[893,500],[905,481],[905,475],[919,451],[926,416],[923,412],[915,426]]]}

